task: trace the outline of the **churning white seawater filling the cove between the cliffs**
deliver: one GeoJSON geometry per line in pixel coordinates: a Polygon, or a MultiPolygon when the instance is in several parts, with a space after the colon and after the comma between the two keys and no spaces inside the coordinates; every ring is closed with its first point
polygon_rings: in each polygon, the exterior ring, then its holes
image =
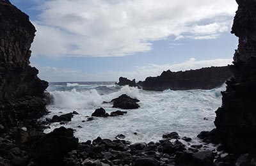
{"type": "Polygon", "coordinates": [[[221,106],[221,91],[224,90],[223,85],[211,90],[156,92],[120,87],[115,82],[52,82],[47,91],[54,96],[54,103],[47,106],[51,113],[44,118],[73,111],[79,114],[67,124],[51,123],[45,133],[65,126],[75,130],[80,142],[97,137],[115,139],[118,134],[124,134],[125,140],[131,142],[150,142],[161,140],[168,132],[196,139],[201,131],[214,128],[214,112],[221,106]],[[108,113],[122,110],[104,103],[122,94],[138,98],[140,109],[125,110],[124,116],[95,117],[93,121],[86,121],[99,107],[108,113]]]}

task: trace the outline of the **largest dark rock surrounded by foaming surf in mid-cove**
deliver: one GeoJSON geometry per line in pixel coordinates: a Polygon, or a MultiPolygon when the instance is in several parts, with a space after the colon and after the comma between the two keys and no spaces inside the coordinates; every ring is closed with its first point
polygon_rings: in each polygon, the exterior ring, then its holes
{"type": "Polygon", "coordinates": [[[120,108],[120,109],[138,109],[140,105],[138,105],[137,102],[140,102],[140,100],[136,98],[131,98],[127,96],[126,94],[122,94],[118,98],[114,98],[111,100],[113,102],[114,108],[120,108]]]}

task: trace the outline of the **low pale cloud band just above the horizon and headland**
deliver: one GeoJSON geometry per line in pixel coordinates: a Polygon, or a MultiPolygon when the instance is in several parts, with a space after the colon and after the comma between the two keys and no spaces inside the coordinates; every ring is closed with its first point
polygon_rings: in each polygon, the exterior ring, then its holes
{"type": "Polygon", "coordinates": [[[54,67],[38,67],[39,77],[41,79],[52,81],[117,81],[120,76],[129,79],[145,80],[146,77],[155,77],[160,75],[164,70],[171,70],[173,72],[184,71],[190,69],[198,69],[209,66],[226,66],[231,64],[232,59],[213,59],[207,61],[196,61],[191,58],[184,63],[177,64],[148,64],[146,66],[138,66],[133,71],[107,71],[100,73],[86,73],[81,70],[61,69],[54,67]]]}

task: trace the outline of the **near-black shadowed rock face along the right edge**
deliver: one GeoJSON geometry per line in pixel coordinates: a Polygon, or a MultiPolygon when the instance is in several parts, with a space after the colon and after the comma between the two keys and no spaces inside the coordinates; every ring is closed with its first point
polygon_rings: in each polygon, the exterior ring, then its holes
{"type": "Polygon", "coordinates": [[[239,45],[230,67],[234,77],[222,93],[214,123],[225,149],[242,154],[256,149],[256,1],[237,3],[232,33],[239,37],[239,45]]]}

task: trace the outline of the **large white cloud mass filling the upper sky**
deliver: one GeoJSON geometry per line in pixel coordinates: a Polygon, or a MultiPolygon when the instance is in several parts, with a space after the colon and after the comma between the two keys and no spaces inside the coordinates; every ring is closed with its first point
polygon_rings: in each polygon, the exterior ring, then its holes
{"type": "Polygon", "coordinates": [[[33,55],[125,56],[170,36],[214,39],[228,31],[234,0],[44,1],[33,55]]]}

